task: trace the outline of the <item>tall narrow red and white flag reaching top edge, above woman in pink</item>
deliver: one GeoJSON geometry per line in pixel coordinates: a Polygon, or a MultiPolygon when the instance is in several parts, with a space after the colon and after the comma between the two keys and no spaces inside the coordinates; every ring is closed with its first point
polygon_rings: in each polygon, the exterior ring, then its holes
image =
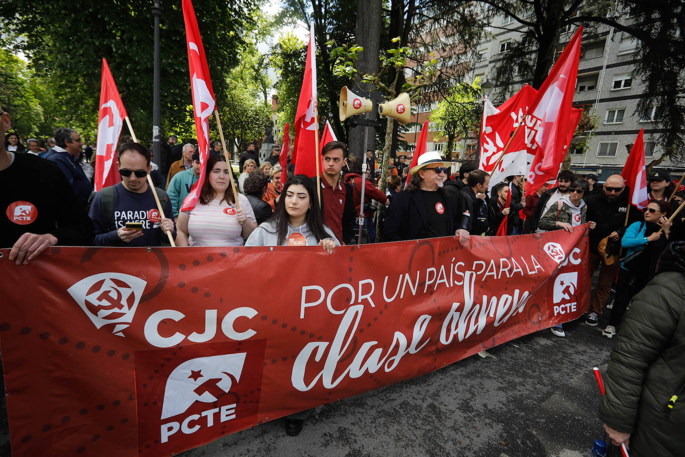
{"type": "Polygon", "coordinates": [[[197,149],[200,154],[200,176],[190,188],[190,193],[181,207],[182,211],[186,211],[195,208],[202,183],[205,180],[207,159],[210,153],[208,119],[216,108],[216,99],[214,99],[214,90],[212,90],[205,49],[202,46],[202,38],[197,28],[197,17],[190,0],[183,0],[183,18],[186,23],[186,45],[188,47],[188,67],[190,68],[190,86],[192,88],[192,110],[195,113],[195,134],[197,135],[197,149]]]}

